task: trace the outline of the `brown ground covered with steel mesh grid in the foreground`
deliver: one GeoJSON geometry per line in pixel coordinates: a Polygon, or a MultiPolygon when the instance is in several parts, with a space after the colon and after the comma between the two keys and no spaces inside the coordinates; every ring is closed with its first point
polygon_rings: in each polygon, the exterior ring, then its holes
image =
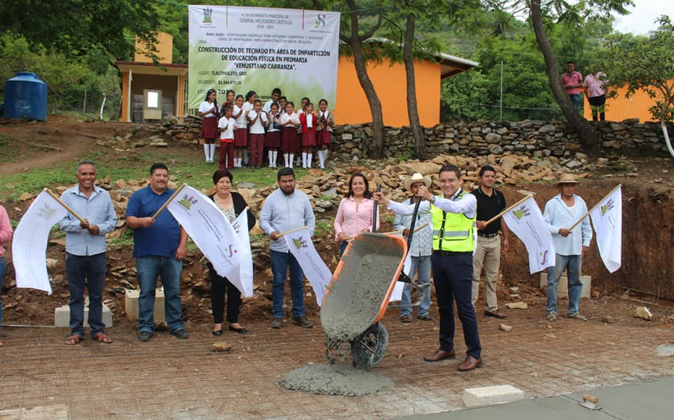
{"type": "MultiPolygon", "coordinates": [[[[527,398],[537,398],[524,403],[536,407],[546,402],[542,397],[674,376],[674,357],[656,353],[657,346],[674,342],[671,324],[628,327],[566,319],[548,324],[539,312],[511,310],[510,332],[499,330],[498,320],[479,316],[484,367],[459,374],[461,360],[421,360],[437,348],[437,321],[402,324],[397,310],[390,310],[383,321],[390,334],[388,353],[375,371],[395,386],[364,398],[278,386],[291,369],[325,363],[324,336],[317,327],[287,322],[273,330],[266,323],[246,323],[250,334],[221,337],[233,344],[230,353],[211,352],[216,340],[210,325],[188,324],[187,340],[161,332],[147,343],[138,342],[132,327],[114,327],[114,343],[86,340],[79,346],[63,344],[67,329],[5,328],[0,418],[394,418],[461,409],[463,390],[478,386],[516,386],[527,398]]],[[[461,329],[458,336],[461,354],[461,329]]],[[[610,398],[599,396],[609,407],[610,398]]]]}

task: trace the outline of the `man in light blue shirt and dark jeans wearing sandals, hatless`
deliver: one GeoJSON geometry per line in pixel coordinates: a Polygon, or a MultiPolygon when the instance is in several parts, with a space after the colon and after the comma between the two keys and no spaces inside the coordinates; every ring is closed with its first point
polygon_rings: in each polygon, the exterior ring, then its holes
{"type": "Polygon", "coordinates": [[[58,223],[65,230],[65,273],[70,289],[70,337],[73,345],[84,337],[84,286],[88,284],[91,337],[99,343],[112,343],[103,324],[103,284],[105,283],[105,234],[117,226],[110,194],[95,186],[96,166],[88,161],[77,164],[78,184],[61,195],[65,204],[84,218],[67,214],[58,223]]]}

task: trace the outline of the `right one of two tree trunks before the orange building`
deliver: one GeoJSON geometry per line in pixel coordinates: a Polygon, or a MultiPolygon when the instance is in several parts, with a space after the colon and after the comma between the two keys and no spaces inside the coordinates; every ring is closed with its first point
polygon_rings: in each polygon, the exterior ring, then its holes
{"type": "Polygon", "coordinates": [[[407,117],[409,128],[414,137],[414,157],[423,160],[426,157],[425,138],[419,122],[419,110],[416,103],[416,77],[414,75],[414,55],[412,44],[414,43],[414,13],[407,14],[407,27],[405,28],[405,44],[402,50],[402,60],[405,63],[405,75],[407,76],[407,117]]]}

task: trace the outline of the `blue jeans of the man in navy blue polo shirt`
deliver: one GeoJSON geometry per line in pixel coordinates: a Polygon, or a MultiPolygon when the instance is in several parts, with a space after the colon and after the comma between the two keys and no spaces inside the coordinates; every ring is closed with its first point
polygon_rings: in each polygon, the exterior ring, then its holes
{"type": "Polygon", "coordinates": [[[157,277],[164,286],[164,313],[171,332],[184,329],[183,305],[180,303],[180,275],[183,261],[169,256],[141,256],[136,258],[140,296],[138,298],[138,331],[154,332],[154,290],[157,277]]]}

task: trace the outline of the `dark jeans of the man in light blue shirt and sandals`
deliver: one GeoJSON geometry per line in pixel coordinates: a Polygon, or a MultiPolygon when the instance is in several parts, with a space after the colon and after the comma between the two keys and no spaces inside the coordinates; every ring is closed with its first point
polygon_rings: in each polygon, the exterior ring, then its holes
{"type": "Polygon", "coordinates": [[[103,324],[103,286],[105,252],[91,256],[65,254],[65,275],[70,289],[70,334],[84,336],[84,287],[89,291],[91,336],[105,332],[103,324]]]}

